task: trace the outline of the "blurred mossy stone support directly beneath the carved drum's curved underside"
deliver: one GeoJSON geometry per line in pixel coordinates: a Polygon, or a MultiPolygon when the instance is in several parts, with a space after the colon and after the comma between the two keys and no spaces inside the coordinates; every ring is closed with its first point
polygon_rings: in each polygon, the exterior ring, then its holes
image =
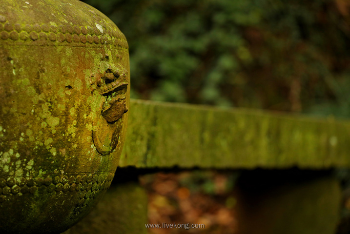
{"type": "Polygon", "coordinates": [[[140,185],[111,186],[89,215],[63,234],[147,234],[147,195],[140,185]]]}

